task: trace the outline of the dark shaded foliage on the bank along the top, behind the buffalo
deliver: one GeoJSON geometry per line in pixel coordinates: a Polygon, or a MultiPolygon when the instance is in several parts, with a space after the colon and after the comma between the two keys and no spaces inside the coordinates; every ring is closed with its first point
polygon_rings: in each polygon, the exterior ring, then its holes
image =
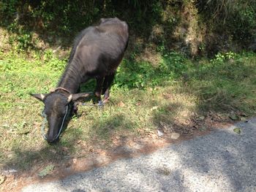
{"type": "Polygon", "coordinates": [[[18,34],[15,41],[20,42],[21,48],[33,44],[32,31],[48,42],[56,42],[54,37],[70,40],[99,18],[108,17],[126,20],[134,37],[144,39],[145,44],[155,43],[158,50],[183,41],[183,47],[194,46],[198,52],[210,47],[208,44],[217,47],[214,43],[222,43],[220,37],[244,48],[256,38],[254,0],[0,0],[0,17],[0,26],[18,34]],[[184,34],[192,34],[189,28],[194,30],[194,36],[204,36],[199,40],[187,37],[199,43],[187,43],[184,34]],[[208,40],[213,37],[215,41],[208,40]]]}

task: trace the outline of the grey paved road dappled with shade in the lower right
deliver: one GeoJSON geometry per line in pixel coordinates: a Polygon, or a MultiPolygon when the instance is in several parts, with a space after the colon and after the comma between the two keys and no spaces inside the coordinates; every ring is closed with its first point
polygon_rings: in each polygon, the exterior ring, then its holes
{"type": "Polygon", "coordinates": [[[256,118],[22,191],[256,191],[256,118]]]}

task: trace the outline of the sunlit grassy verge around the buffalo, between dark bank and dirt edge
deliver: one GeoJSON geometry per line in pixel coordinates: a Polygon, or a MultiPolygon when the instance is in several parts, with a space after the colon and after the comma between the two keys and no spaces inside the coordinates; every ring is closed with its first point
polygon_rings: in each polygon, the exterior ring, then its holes
{"type": "MultiPolygon", "coordinates": [[[[51,50],[44,55],[0,52],[0,167],[32,169],[111,147],[118,137],[143,137],[168,129],[180,134],[219,121],[243,120],[256,113],[256,54],[225,53],[190,60],[178,53],[162,55],[159,64],[122,61],[103,110],[80,106],[56,145],[42,139],[43,104],[29,93],[47,93],[59,80],[67,60],[51,50]],[[213,115],[214,114],[214,115],[213,115]]],[[[94,82],[83,86],[93,91],[94,82]]],[[[166,131],[166,130],[165,130],[166,131]]]]}

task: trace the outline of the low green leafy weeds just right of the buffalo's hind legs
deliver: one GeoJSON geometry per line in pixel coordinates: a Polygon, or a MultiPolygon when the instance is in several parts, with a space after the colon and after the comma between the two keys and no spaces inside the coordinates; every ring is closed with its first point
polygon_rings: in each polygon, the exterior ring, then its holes
{"type": "Polygon", "coordinates": [[[175,78],[181,77],[186,70],[186,58],[174,52],[162,56],[158,66],[151,66],[146,61],[124,59],[117,70],[115,84],[125,88],[154,87],[165,82],[172,82],[175,78]]]}

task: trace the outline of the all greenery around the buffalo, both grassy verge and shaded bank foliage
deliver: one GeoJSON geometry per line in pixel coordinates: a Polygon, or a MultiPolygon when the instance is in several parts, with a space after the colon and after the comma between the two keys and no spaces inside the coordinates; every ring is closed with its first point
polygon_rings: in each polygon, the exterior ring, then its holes
{"type": "MultiPolygon", "coordinates": [[[[205,131],[256,112],[254,0],[0,0],[1,169],[45,164],[205,131]],[[40,135],[42,104],[75,35],[100,18],[129,24],[129,47],[104,110],[80,107],[54,146],[40,135]]],[[[83,86],[92,91],[94,81],[83,86]]]]}

